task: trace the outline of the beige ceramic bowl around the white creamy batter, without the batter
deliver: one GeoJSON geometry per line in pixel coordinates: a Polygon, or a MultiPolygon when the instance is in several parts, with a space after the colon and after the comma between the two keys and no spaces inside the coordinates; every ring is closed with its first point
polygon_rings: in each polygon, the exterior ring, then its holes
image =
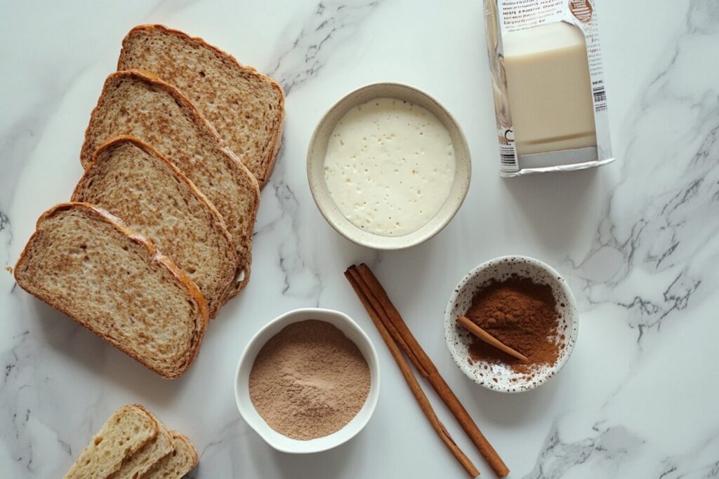
{"type": "Polygon", "coordinates": [[[457,210],[462,206],[464,197],[470,187],[471,175],[470,148],[467,146],[467,140],[464,139],[464,134],[457,121],[434,98],[417,88],[401,83],[372,83],[344,96],[322,117],[312,135],[307,151],[307,178],[312,196],[320,213],[327,220],[327,223],[342,236],[354,241],[354,243],[370,248],[409,248],[427,241],[439,233],[454,218],[457,210]],[[449,131],[449,136],[454,146],[454,158],[457,163],[449,197],[426,225],[404,236],[381,236],[365,231],[362,228],[357,228],[337,208],[324,181],[324,157],[327,151],[327,142],[337,122],[354,106],[367,103],[367,101],[374,98],[396,98],[426,108],[449,131]]]}

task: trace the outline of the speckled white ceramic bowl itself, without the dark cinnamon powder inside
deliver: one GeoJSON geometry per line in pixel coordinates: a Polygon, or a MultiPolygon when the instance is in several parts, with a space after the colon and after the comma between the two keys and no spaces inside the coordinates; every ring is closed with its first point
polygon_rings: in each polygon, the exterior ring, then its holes
{"type": "Polygon", "coordinates": [[[557,374],[572,354],[574,343],[577,341],[578,327],[577,304],[567,282],[551,266],[527,256],[502,256],[472,269],[454,289],[444,312],[444,338],[449,353],[452,353],[452,358],[459,369],[475,383],[506,393],[534,389],[557,374]],[[564,348],[560,350],[557,362],[552,366],[539,367],[531,379],[523,373],[514,372],[504,364],[487,363],[487,361],[470,362],[469,348],[472,335],[457,325],[457,316],[464,315],[469,310],[477,289],[492,279],[501,281],[511,274],[529,277],[536,283],[551,286],[560,315],[558,333],[564,335],[562,341],[564,348]]]}

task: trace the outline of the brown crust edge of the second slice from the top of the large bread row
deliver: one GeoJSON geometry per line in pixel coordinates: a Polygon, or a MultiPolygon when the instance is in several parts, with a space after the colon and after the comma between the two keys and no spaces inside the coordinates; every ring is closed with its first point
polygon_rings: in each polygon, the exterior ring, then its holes
{"type": "MultiPolygon", "coordinates": [[[[162,90],[168,92],[168,94],[170,94],[170,96],[172,96],[175,101],[179,102],[178,104],[181,104],[180,108],[187,108],[187,110],[191,112],[193,116],[193,121],[196,123],[196,125],[198,125],[201,129],[205,129],[211,134],[211,136],[213,136],[213,138],[217,142],[219,151],[224,154],[224,156],[228,159],[227,164],[231,165],[230,168],[234,171],[235,175],[242,176],[245,180],[249,182],[249,185],[252,189],[252,200],[255,203],[255,208],[252,208],[252,217],[248,221],[248,224],[255,225],[255,219],[257,218],[257,209],[260,205],[260,185],[257,182],[255,175],[252,175],[252,172],[250,172],[249,169],[244,166],[244,164],[239,160],[239,158],[237,158],[234,153],[232,153],[228,148],[224,147],[222,139],[214,126],[212,126],[209,121],[207,121],[206,118],[202,116],[202,113],[198,111],[196,106],[194,106],[193,103],[182,92],[180,92],[180,90],[173,87],[173,85],[170,85],[169,83],[165,83],[164,81],[160,80],[160,78],[157,78],[157,75],[147,72],[145,70],[123,70],[111,73],[105,80],[105,84],[102,88],[102,93],[100,94],[100,98],[95,108],[93,108],[93,111],[90,115],[88,127],[85,130],[85,140],[83,141],[83,147],[80,154],[80,159],[83,164],[83,167],[85,169],[88,169],[93,158],[93,149],[91,146],[91,138],[93,134],[93,118],[96,118],[96,113],[101,111],[101,108],[104,107],[104,102],[106,99],[105,92],[109,85],[111,85],[111,83],[117,78],[139,79],[157,88],[161,88],[162,90]]],[[[230,285],[229,289],[227,290],[225,296],[226,299],[224,299],[223,304],[229,299],[232,299],[232,297],[237,296],[237,293],[247,285],[247,282],[249,282],[250,271],[252,269],[252,229],[250,229],[250,231],[245,231],[244,233],[245,236],[247,236],[248,238],[247,245],[245,246],[245,248],[247,249],[247,257],[244,257],[245,255],[239,255],[242,257],[238,259],[238,263],[244,271],[244,279],[242,280],[242,282],[239,282],[237,284],[237,287],[234,284],[230,285]]]]}

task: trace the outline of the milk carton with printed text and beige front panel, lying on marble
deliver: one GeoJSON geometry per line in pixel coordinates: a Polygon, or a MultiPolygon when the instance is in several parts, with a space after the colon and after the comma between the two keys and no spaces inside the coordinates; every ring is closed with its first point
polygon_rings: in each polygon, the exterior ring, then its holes
{"type": "Polygon", "coordinates": [[[590,0],[485,0],[500,175],[614,161],[590,0]]]}

